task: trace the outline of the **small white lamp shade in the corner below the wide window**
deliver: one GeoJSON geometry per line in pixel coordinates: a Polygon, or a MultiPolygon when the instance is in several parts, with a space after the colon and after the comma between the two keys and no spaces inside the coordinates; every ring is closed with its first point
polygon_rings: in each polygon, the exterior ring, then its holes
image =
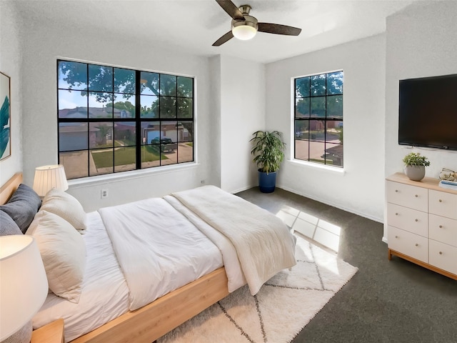
{"type": "Polygon", "coordinates": [[[34,179],[34,191],[36,194],[44,197],[53,188],[60,189],[61,191],[69,189],[64,166],[53,164],[36,167],[34,179]]]}

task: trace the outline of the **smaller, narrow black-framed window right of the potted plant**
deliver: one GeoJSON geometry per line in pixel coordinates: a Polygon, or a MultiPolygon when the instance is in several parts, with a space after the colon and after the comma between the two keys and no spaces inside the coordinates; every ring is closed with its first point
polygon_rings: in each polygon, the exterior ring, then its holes
{"type": "Polygon", "coordinates": [[[295,79],[295,159],[343,166],[343,71],[295,79]]]}

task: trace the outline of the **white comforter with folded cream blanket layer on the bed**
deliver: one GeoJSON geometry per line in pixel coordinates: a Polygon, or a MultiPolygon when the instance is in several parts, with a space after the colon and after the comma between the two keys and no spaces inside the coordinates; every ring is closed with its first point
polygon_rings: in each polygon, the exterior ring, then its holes
{"type": "Polygon", "coordinates": [[[229,292],[247,282],[256,294],[273,275],[296,264],[295,238],[281,219],[218,187],[99,213],[129,286],[131,310],[222,265],[229,292]]]}

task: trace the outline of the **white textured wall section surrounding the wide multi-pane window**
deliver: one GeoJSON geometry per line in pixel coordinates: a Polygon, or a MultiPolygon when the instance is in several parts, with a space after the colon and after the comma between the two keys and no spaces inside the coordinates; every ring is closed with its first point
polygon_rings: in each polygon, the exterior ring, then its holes
{"type": "MultiPolygon", "coordinates": [[[[85,184],[72,184],[69,193],[84,205],[86,211],[162,196],[181,189],[206,184],[219,186],[211,169],[213,148],[211,131],[214,116],[210,111],[211,84],[209,59],[166,51],[161,46],[123,40],[109,32],[86,32],[84,29],[62,29],[49,22],[24,21],[24,46],[21,87],[24,136],[24,182],[31,185],[34,168],[57,162],[56,59],[69,58],[100,64],[125,66],[196,77],[196,151],[198,164],[183,169],[172,166],[166,172],[127,172],[121,179],[91,178],[85,184]],[[101,189],[109,197],[101,199],[101,189]]],[[[3,28],[3,24],[2,24],[3,28]]]]}

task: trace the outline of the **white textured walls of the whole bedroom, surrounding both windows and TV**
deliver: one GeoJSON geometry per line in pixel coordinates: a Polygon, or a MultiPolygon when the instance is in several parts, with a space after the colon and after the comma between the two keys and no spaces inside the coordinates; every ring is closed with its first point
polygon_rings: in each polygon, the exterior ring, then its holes
{"type": "MultiPolygon", "coordinates": [[[[384,178],[401,171],[409,152],[396,143],[398,80],[457,73],[454,1],[420,1],[389,17],[386,34],[266,66],[228,56],[188,56],[81,28],[62,30],[39,22],[39,15],[22,22],[11,2],[0,6],[0,70],[11,76],[17,134],[12,156],[0,163],[1,184],[22,169],[31,184],[36,166],[57,161],[57,58],[196,76],[198,164],[71,186],[86,210],[196,187],[202,180],[229,192],[254,186],[248,140],[257,129],[278,129],[288,144],[278,187],[382,221],[384,178]],[[338,69],[345,80],[344,173],[290,160],[291,79],[338,69]],[[109,198],[102,202],[105,188],[109,198]]],[[[457,169],[456,153],[425,152],[432,162],[428,176],[437,177],[443,166],[457,169]]]]}

